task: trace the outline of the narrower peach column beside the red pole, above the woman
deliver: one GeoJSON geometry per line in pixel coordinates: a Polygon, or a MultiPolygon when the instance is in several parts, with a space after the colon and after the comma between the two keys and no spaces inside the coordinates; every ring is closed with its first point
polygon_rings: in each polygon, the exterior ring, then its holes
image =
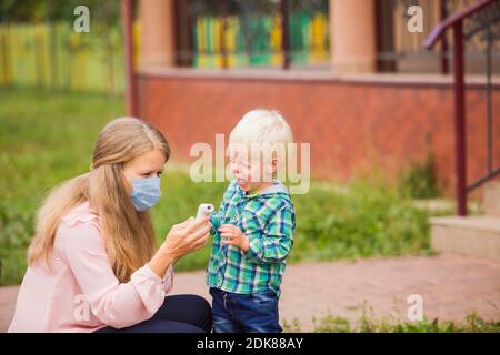
{"type": "Polygon", "coordinates": [[[176,59],[173,0],[140,0],[141,63],[147,67],[172,67],[176,59]]]}

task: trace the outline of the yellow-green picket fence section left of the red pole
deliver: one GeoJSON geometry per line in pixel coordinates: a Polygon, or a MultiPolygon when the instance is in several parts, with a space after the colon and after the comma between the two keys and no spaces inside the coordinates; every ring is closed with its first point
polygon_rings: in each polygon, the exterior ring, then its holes
{"type": "Polygon", "coordinates": [[[121,30],[94,23],[78,33],[68,23],[0,26],[0,87],[119,94],[124,89],[121,30]]]}

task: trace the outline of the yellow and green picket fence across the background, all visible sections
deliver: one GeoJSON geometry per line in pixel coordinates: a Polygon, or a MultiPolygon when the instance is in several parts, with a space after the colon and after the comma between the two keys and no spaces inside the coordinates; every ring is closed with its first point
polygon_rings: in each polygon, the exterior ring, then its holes
{"type": "MultiPolygon", "coordinates": [[[[238,17],[199,17],[193,26],[194,68],[280,67],[281,18],[254,17],[247,31],[238,17]],[[222,50],[224,48],[224,50],[222,50]],[[222,53],[226,53],[224,55],[222,53]]],[[[290,16],[293,63],[329,61],[328,18],[324,13],[290,16]]],[[[134,23],[136,63],[140,22],[134,23]]],[[[78,33],[66,22],[0,24],[0,87],[89,91],[121,94],[124,90],[122,33],[119,26],[93,23],[78,33]]]]}

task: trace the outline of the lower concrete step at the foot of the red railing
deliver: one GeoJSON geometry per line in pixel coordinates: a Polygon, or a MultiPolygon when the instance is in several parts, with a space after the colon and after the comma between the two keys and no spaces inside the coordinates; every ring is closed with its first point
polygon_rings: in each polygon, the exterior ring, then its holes
{"type": "Polygon", "coordinates": [[[500,217],[432,217],[431,246],[438,252],[500,261],[500,217]]]}

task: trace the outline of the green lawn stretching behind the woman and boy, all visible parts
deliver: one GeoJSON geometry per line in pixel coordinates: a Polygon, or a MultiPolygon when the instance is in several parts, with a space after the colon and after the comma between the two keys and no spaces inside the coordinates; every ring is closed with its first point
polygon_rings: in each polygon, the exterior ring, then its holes
{"type": "MultiPolygon", "coordinates": [[[[109,120],[123,115],[122,99],[36,91],[0,91],[0,284],[26,271],[33,215],[47,192],[89,170],[94,140],[109,120]]],[[[201,202],[219,204],[224,183],[193,183],[180,169],[162,178],[153,209],[160,243],[170,226],[201,202]]],[[[406,193],[381,182],[349,185],[312,182],[294,195],[298,227],[291,262],[430,253],[428,213],[406,193]]],[[[209,247],[186,256],[178,271],[204,268],[209,247]]]]}

